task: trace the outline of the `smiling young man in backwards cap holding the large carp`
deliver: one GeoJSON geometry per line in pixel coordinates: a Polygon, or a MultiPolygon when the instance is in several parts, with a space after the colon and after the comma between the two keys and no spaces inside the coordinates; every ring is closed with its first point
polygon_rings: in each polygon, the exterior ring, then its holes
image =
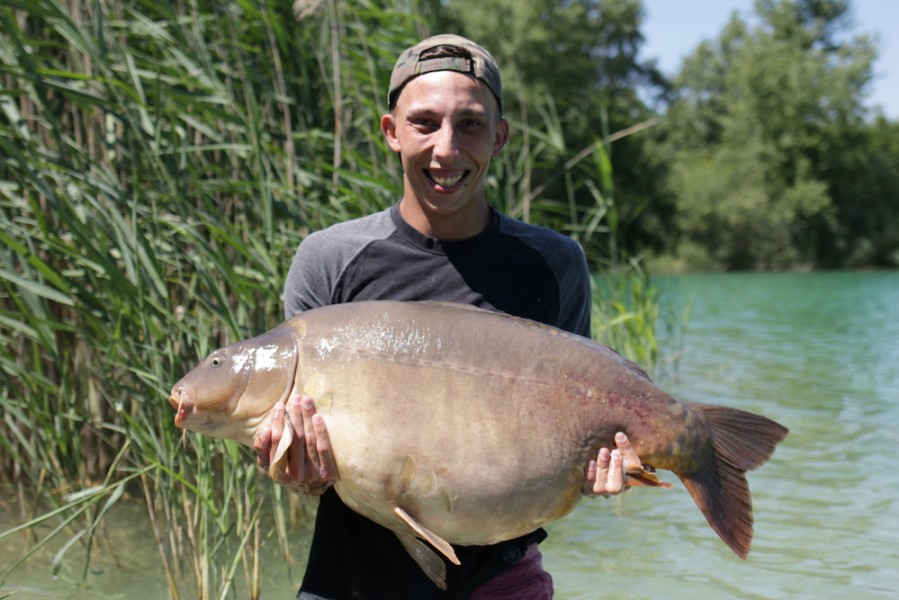
{"type": "MultiPolygon", "coordinates": [[[[590,285],[580,246],[487,203],[490,161],[509,137],[493,57],[459,36],[424,40],[397,61],[388,105],[381,130],[402,161],[403,197],[386,211],[313,233],[300,244],[285,286],[287,316],[358,300],[444,300],[589,336],[590,285]]],[[[552,597],[537,548],[546,537],[542,529],[495,546],[456,548],[462,565],[448,565],[448,590],[439,590],[392,531],[353,512],[329,489],[337,473],[311,398],[291,398],[272,413],[270,430],[255,443],[260,463],[267,465],[277,446],[285,410],[301,436],[278,481],[321,494],[299,598],[552,597]]],[[[585,493],[626,489],[624,463],[640,461],[623,434],[616,443],[585,465],[585,493]]],[[[489,456],[484,463],[489,468],[489,456]]]]}

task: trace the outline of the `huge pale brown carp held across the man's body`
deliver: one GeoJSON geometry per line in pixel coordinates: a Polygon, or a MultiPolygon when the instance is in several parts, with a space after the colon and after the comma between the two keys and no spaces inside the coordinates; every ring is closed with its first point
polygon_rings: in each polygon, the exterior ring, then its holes
{"type": "Polygon", "coordinates": [[[658,484],[653,468],[673,471],[745,558],[744,474],[787,434],[766,417],[678,402],[589,339],[435,302],[309,310],[216,350],[169,401],[178,427],[252,446],[292,393],[312,396],[324,418],[341,499],[396,532],[441,587],[444,563],[421,539],[458,563],[450,543],[493,544],[563,517],[617,431],[644,463],[635,476],[658,484]]]}

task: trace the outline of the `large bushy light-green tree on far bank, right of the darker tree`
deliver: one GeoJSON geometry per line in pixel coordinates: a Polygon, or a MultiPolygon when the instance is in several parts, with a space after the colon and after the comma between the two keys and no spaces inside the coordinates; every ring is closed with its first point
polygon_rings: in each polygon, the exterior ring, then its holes
{"type": "Polygon", "coordinates": [[[724,267],[832,265],[858,225],[836,192],[845,152],[865,144],[874,45],[848,36],[843,0],[755,7],[758,25],[734,15],[675,80],[665,145],[677,222],[724,267]]]}

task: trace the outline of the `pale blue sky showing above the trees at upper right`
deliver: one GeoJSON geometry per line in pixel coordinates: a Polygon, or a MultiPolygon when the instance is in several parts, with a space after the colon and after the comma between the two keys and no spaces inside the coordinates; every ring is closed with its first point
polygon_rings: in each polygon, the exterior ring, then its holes
{"type": "MultiPolygon", "coordinates": [[[[668,75],[700,42],[716,39],[733,11],[743,17],[754,12],[753,0],[643,0],[643,7],[646,40],[640,56],[656,59],[668,75]]],[[[850,10],[853,33],[879,37],[866,105],[899,120],[899,0],[853,0],[850,10]]]]}

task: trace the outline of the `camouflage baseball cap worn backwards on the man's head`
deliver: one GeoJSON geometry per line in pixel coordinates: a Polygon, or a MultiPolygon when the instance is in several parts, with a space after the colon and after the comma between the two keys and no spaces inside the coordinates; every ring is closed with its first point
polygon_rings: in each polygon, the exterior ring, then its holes
{"type": "Polygon", "coordinates": [[[433,71],[458,71],[467,73],[484,82],[493,92],[499,103],[499,111],[503,111],[503,83],[499,75],[499,67],[493,56],[484,48],[460,35],[449,33],[435,35],[422,40],[415,46],[400,54],[390,76],[390,90],[387,92],[387,105],[392,110],[403,87],[412,79],[433,71]],[[427,51],[437,46],[455,46],[461,48],[466,56],[446,56],[436,53],[428,56],[427,51]],[[425,54],[422,57],[422,54],[425,54]]]}

